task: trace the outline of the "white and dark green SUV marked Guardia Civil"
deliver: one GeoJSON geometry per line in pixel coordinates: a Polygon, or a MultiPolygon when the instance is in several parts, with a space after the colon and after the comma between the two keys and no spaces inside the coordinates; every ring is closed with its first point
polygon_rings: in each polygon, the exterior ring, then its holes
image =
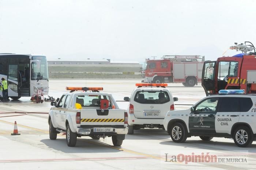
{"type": "Polygon", "coordinates": [[[173,142],[185,142],[191,136],[202,140],[224,137],[246,147],[256,140],[256,95],[207,96],[191,109],[168,112],[163,125],[173,142]]]}

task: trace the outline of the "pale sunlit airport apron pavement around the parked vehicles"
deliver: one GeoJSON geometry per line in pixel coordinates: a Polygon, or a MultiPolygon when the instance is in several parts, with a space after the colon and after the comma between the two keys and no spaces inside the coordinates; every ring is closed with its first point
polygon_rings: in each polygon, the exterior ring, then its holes
{"type": "MultiPolygon", "coordinates": [[[[66,86],[102,86],[116,100],[129,97],[139,80],[50,80],[49,95],[55,98],[67,92],[66,86]]],[[[201,86],[184,87],[168,84],[176,104],[194,104],[205,96],[201,86]]],[[[0,103],[0,112],[25,111],[48,112],[50,102],[31,103],[29,97],[19,101],[0,103]]],[[[118,102],[127,108],[127,102],[118,102]]],[[[189,105],[176,105],[176,109],[188,109],[189,105]]],[[[233,139],[213,138],[203,141],[199,137],[188,138],[185,143],[174,143],[166,131],[159,129],[135,130],[126,135],[121,147],[114,147],[111,138],[93,140],[78,138],[76,147],[68,147],[65,135],[58,134],[57,140],[49,139],[47,114],[0,114],[0,169],[1,170],[82,170],[82,169],[256,169],[256,142],[249,148],[237,147],[233,139]],[[14,121],[21,135],[11,136],[14,121]],[[166,159],[167,155],[167,159],[166,159]],[[176,157],[176,162],[173,156],[176,157]],[[192,162],[193,155],[214,156],[217,162],[192,162]],[[226,158],[245,159],[246,162],[223,162],[226,158]],[[182,159],[184,159],[182,161],[182,159]],[[173,161],[170,161],[173,160],[173,161]],[[186,161],[187,160],[187,163],[186,161]],[[220,162],[222,161],[222,162],[220,162]]],[[[229,159],[231,160],[231,159],[229,159]]]]}

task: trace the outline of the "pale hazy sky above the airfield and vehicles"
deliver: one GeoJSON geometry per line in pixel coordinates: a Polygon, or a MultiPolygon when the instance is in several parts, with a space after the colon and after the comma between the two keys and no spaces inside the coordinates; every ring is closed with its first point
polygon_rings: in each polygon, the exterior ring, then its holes
{"type": "Polygon", "coordinates": [[[256,45],[255,7],[255,0],[0,0],[0,53],[216,60],[234,42],[256,45]]]}

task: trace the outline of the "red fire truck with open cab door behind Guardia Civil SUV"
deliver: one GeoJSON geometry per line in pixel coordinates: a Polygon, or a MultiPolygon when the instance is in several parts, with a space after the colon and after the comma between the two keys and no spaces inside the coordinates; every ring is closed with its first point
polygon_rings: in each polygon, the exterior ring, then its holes
{"type": "Polygon", "coordinates": [[[240,45],[235,43],[230,49],[243,53],[233,57],[220,57],[217,61],[204,62],[202,86],[206,96],[218,94],[222,89],[242,89],[245,93],[256,93],[255,47],[247,41],[240,45]]]}

